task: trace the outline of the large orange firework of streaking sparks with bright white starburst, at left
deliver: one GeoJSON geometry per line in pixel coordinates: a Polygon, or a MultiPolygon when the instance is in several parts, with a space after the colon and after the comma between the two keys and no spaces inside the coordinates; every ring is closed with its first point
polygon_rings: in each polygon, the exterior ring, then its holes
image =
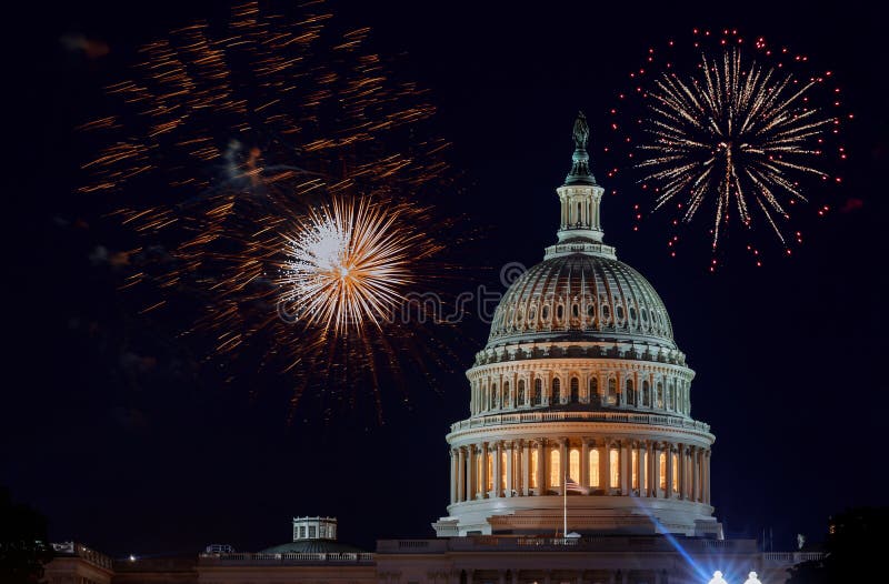
{"type": "Polygon", "coordinates": [[[363,50],[368,29],[298,10],[248,2],[143,47],[107,89],[112,113],[82,128],[99,154],[80,191],[129,229],[121,288],[139,312],[198,314],[182,335],[212,341],[224,381],[289,372],[293,407],[313,390],[354,404],[357,387],[379,405],[378,370],[397,377],[420,346],[430,365],[448,355],[433,322],[382,319],[446,271],[451,223],[428,202],[449,184],[448,144],[424,92],[363,50]]]}

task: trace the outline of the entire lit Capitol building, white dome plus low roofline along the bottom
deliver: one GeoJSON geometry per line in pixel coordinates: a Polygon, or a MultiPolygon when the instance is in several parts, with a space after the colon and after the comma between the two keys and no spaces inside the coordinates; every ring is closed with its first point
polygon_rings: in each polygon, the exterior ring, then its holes
{"type": "Polygon", "coordinates": [[[469,417],[446,436],[450,504],[436,537],[363,551],[337,541],[336,518],[297,517],[291,542],[258,553],[112,561],[57,545],[47,581],[777,584],[820,556],[723,537],[715,435],[691,415],[695,372],[657,291],[603,240],[588,134],[580,114],[556,190],[557,242],[509,286],[467,372],[469,417]]]}

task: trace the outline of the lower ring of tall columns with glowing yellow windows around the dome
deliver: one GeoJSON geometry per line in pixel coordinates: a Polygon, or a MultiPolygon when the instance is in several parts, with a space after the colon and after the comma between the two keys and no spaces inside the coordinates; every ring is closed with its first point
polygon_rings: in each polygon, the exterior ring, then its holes
{"type": "Polygon", "coordinates": [[[710,450],[632,439],[497,440],[451,449],[451,504],[482,499],[635,495],[710,503],[710,450]],[[567,486],[566,486],[567,483],[567,486]]]}

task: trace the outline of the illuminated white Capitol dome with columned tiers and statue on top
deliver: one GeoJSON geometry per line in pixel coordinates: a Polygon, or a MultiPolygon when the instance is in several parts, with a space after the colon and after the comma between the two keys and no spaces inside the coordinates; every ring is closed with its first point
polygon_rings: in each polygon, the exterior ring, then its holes
{"type": "MultiPolygon", "coordinates": [[[[559,197],[557,242],[501,299],[451,425],[439,536],[677,533],[721,537],[710,426],[653,286],[603,241],[589,129],[559,197]]],[[[520,268],[510,264],[505,283],[520,268]]]]}

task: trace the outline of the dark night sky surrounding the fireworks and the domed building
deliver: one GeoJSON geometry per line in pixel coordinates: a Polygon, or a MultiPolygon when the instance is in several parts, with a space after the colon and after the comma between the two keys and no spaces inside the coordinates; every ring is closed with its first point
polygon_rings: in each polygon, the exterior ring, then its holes
{"type": "MultiPolygon", "coordinates": [[[[132,314],[90,252],[106,233],[72,190],[82,177],[72,128],[97,113],[100,87],[127,74],[139,44],[222,2],[32,2],[10,16],[7,98],[12,179],[4,235],[12,265],[0,405],[0,484],[77,538],[112,555],[287,541],[294,514],[332,514],[341,538],[429,536],[444,514],[449,424],[468,414],[462,370],[486,338],[467,322],[458,371],[440,393],[414,384],[386,424],[366,412],[328,423],[286,422],[287,380],[244,375],[229,386],[193,371],[183,348],[132,314]],[[13,18],[14,17],[14,18],[13,18]],[[82,33],[110,47],[87,59],[59,41],[82,33]],[[148,361],[146,361],[148,360],[148,361]],[[141,369],[140,369],[141,367],[141,369]],[[204,380],[204,381],[202,381],[204,380]],[[251,390],[254,392],[250,397],[251,390]]],[[[693,27],[737,27],[786,42],[832,69],[857,122],[833,197],[862,207],[805,223],[792,260],[766,245],[707,272],[706,246],[668,256],[665,234],[631,231],[630,181],[603,203],[607,241],[663,298],[677,341],[697,371],[692,414],[717,436],[712,493],[732,535],[775,531],[818,538],[848,505],[886,504],[882,436],[886,299],[887,49],[881,19],[861,3],[778,2],[334,2],[344,23],[370,26],[371,47],[399,56],[440,108],[440,133],[461,171],[456,198],[483,236],[468,272],[497,284],[510,261],[532,264],[555,239],[553,189],[570,164],[570,125],[583,109],[592,140],[649,44],[693,27]],[[816,4],[808,4],[815,7],[816,4]],[[627,193],[627,194],[623,194],[627,193]]],[[[597,160],[593,159],[597,167],[597,160]]],[[[657,223],[652,223],[656,225],[657,223]]],[[[761,228],[760,228],[761,229],[761,228]]],[[[768,241],[768,234],[760,233],[768,241]]],[[[249,373],[249,372],[246,372],[249,373]]]]}

